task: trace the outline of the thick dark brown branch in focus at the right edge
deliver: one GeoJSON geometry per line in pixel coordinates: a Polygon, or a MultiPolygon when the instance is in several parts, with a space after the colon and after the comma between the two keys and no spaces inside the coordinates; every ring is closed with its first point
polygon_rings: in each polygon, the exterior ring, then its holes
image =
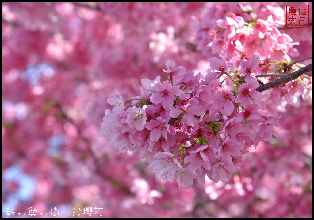
{"type": "Polygon", "coordinates": [[[297,71],[295,71],[294,73],[289,73],[289,74],[284,74],[280,79],[276,79],[270,83],[264,84],[260,87],[258,87],[257,89],[255,89],[258,92],[263,92],[265,90],[271,89],[271,88],[275,88],[279,85],[285,84],[290,82],[291,80],[294,80],[296,78],[298,78],[299,76],[301,76],[302,74],[308,73],[312,71],[312,64],[309,64],[305,67],[302,67],[300,69],[298,69],[297,71]]]}

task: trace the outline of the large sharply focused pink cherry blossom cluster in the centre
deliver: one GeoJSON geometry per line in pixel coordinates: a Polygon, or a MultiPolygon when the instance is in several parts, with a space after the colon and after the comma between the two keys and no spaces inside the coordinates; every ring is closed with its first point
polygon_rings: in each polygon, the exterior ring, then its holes
{"type": "Polygon", "coordinates": [[[281,116],[263,112],[267,98],[255,90],[260,84],[252,75],[259,56],[241,59],[241,73],[228,71],[226,53],[221,57],[210,60],[214,72],[205,77],[167,60],[169,80],[142,79],[140,95],[124,100],[117,91],[118,97],[108,98],[114,107],[106,110],[102,127],[112,146],[149,156],[156,176],[180,187],[193,179],[203,184],[205,176],[214,182],[230,178],[247,147],[276,136],[272,129],[281,116]]]}

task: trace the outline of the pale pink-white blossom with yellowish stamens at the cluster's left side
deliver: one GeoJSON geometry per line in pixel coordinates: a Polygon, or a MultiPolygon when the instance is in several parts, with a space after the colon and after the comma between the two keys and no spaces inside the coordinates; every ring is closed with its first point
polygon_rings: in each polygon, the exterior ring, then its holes
{"type": "Polygon", "coordinates": [[[143,106],[143,108],[138,108],[138,107],[129,107],[127,109],[128,115],[127,115],[127,120],[126,123],[129,125],[130,128],[134,128],[136,130],[143,130],[144,125],[146,123],[146,113],[145,109],[146,105],[143,106]]]}

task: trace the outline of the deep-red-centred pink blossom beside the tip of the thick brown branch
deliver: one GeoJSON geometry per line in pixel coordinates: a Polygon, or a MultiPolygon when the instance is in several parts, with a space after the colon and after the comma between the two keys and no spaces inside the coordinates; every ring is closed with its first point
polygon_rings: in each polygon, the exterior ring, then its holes
{"type": "Polygon", "coordinates": [[[239,86],[239,89],[236,91],[239,92],[236,103],[241,103],[244,107],[248,104],[251,104],[250,96],[256,100],[260,101],[263,99],[262,93],[254,90],[258,88],[260,84],[256,80],[249,81],[248,83],[244,83],[239,86]]]}

